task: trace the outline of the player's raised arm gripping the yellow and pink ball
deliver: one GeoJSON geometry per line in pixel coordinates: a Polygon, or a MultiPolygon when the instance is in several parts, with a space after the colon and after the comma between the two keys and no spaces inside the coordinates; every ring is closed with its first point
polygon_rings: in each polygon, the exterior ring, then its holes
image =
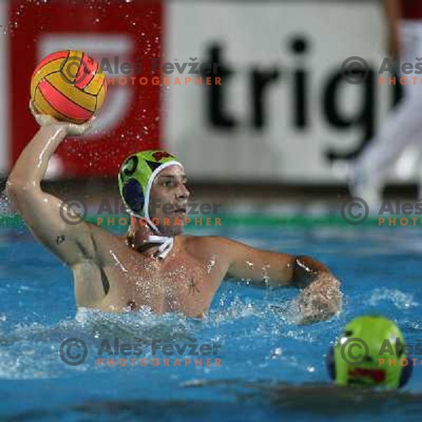
{"type": "MultiPolygon", "coordinates": [[[[65,136],[83,134],[90,123],[57,122],[31,110],[41,127],[15,163],[8,177],[6,193],[34,236],[60,260],[72,266],[87,259],[93,249],[89,228],[85,223],[70,225],[60,217],[63,200],[42,191],[41,179],[51,155],[65,136]]],[[[63,211],[68,210],[64,207],[63,211]]]]}

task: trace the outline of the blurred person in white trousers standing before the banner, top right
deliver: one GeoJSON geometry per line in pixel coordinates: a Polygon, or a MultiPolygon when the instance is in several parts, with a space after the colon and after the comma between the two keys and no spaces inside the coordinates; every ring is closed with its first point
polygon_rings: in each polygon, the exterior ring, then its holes
{"type": "MultiPolygon", "coordinates": [[[[399,58],[400,65],[405,62],[416,65],[418,58],[422,60],[422,1],[384,0],[384,6],[390,56],[399,58]]],[[[404,86],[404,98],[354,161],[349,177],[352,196],[363,198],[377,212],[392,165],[407,146],[421,142],[422,75],[413,70],[401,72],[401,76],[409,80],[404,86]]],[[[418,198],[421,195],[422,186],[418,186],[418,198]]]]}

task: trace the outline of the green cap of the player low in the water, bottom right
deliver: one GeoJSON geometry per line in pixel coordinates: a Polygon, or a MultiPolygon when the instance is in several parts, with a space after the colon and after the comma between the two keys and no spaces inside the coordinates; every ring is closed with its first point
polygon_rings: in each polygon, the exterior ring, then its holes
{"type": "Polygon", "coordinates": [[[394,322],[383,316],[359,316],[345,326],[328,350],[328,373],[338,385],[400,388],[412,369],[405,349],[402,332],[394,322]]]}

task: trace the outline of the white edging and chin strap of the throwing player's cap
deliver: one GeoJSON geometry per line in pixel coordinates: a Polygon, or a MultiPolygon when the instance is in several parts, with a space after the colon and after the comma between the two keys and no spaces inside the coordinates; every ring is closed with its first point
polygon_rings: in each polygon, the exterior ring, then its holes
{"type": "MultiPolygon", "coordinates": [[[[160,246],[158,247],[158,254],[157,256],[160,259],[164,259],[167,257],[167,255],[170,253],[170,250],[173,248],[174,244],[174,238],[172,236],[162,236],[160,235],[160,230],[158,230],[158,227],[155,226],[155,224],[151,221],[151,218],[149,216],[149,197],[151,193],[151,187],[153,186],[153,181],[155,177],[157,177],[157,174],[161,172],[161,170],[164,170],[166,167],[170,167],[170,165],[178,165],[182,169],[184,168],[179,161],[167,161],[163,163],[162,165],[158,166],[153,173],[151,174],[151,177],[148,180],[148,184],[146,185],[146,192],[145,192],[145,200],[143,202],[143,215],[146,218],[146,222],[148,223],[148,227],[150,229],[153,229],[155,233],[157,234],[150,234],[148,235],[148,239],[146,240],[146,243],[157,243],[160,246]]],[[[130,211],[130,215],[133,215],[134,217],[141,218],[140,215],[134,214],[134,212],[130,211]]]]}

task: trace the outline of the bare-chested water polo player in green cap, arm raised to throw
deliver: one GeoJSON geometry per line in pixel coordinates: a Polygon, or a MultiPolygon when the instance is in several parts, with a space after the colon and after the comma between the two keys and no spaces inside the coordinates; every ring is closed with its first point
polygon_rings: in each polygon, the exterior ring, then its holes
{"type": "Polygon", "coordinates": [[[120,194],[132,216],[127,236],[86,222],[67,224],[60,217],[63,201],[42,191],[40,183],[60,142],[84,134],[92,121],[58,122],[30,108],[40,129],[18,158],[6,190],[34,236],[72,269],[78,307],[122,312],[146,306],[158,314],[201,317],[230,276],[302,288],[294,303],[303,323],[338,312],[340,283],[311,257],[258,250],[219,236],[181,236],[182,226],[162,224],[164,218],[184,217],[189,198],[183,166],[165,151],[143,151],[122,164],[120,194]],[[152,209],[151,201],[161,205],[152,209]],[[138,224],[141,217],[147,226],[138,224]]]}

